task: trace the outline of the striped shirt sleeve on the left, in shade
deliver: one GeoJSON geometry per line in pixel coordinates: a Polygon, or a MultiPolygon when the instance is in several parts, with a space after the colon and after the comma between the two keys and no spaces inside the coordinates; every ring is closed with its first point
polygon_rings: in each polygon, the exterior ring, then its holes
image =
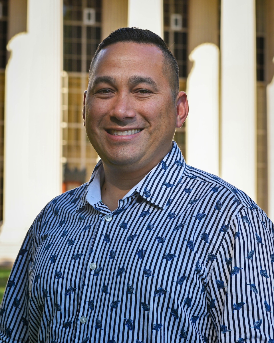
{"type": "Polygon", "coordinates": [[[33,226],[30,227],[11,274],[0,306],[0,342],[28,342],[29,270],[32,264],[33,226]]]}

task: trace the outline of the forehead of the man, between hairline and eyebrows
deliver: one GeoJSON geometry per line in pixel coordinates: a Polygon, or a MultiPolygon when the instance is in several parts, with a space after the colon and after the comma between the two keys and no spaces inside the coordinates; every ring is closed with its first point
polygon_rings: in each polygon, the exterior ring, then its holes
{"type": "MultiPolygon", "coordinates": [[[[155,45],[119,42],[102,49],[97,55],[91,79],[100,74],[149,75],[165,79],[164,56],[155,45]]],[[[156,80],[157,81],[157,80],[156,80]]]]}

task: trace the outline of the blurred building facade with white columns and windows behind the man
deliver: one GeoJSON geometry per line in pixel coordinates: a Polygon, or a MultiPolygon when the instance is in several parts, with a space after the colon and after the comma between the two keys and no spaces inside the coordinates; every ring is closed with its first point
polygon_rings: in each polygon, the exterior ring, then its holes
{"type": "Polygon", "coordinates": [[[186,162],[274,219],[273,0],[0,0],[0,264],[99,161],[83,93],[98,44],[125,26],[159,34],[178,61],[190,110],[174,140],[186,162]]]}

